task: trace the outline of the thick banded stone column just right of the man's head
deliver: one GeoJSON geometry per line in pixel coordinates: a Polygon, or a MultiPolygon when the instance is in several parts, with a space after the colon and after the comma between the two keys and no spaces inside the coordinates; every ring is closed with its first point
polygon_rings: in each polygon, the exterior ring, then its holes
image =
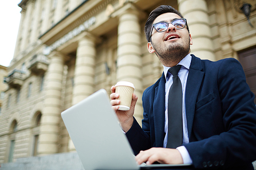
{"type": "Polygon", "coordinates": [[[208,9],[205,0],[178,0],[178,7],[187,19],[193,39],[191,53],[201,59],[216,60],[209,26],[208,9]]]}

